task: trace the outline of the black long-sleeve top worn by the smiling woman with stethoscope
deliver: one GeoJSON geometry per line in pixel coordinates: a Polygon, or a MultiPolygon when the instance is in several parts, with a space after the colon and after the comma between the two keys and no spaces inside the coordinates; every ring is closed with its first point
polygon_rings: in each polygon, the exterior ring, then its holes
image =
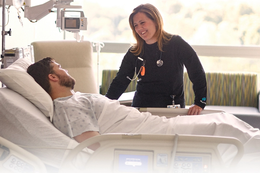
{"type": "Polygon", "coordinates": [[[204,69],[194,49],[178,35],[174,35],[163,46],[163,52],[159,50],[157,42],[150,45],[144,42],[144,49],[138,56],[128,50],[116,77],[109,86],[106,97],[118,99],[131,82],[128,77],[130,79],[135,77],[135,67],[136,74],[138,74],[143,64],[145,74],[144,76],[141,76],[141,73],[138,75],[139,81],[132,102],[133,107],[166,108],[167,105],[172,105],[172,95],[175,95],[174,103],[185,108],[183,87],[183,65],[185,65],[193,83],[194,104],[204,109],[207,98],[204,69]],[[144,59],[145,64],[138,57],[144,59]],[[160,58],[163,65],[158,67],[156,62],[160,58]]]}

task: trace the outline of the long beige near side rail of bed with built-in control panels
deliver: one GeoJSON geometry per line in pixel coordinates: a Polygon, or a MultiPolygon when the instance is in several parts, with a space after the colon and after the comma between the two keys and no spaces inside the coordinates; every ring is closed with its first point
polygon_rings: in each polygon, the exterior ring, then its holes
{"type": "Polygon", "coordinates": [[[61,172],[223,172],[233,168],[244,153],[235,138],[162,134],[103,134],[81,142],[66,157],[61,172]],[[82,166],[73,159],[83,148],[100,147],[82,166]],[[230,144],[237,154],[224,164],[219,144],[230,144]],[[102,165],[102,166],[100,166],[102,165]],[[78,167],[78,168],[77,168],[78,167]],[[77,171],[76,171],[77,170],[77,171]]]}

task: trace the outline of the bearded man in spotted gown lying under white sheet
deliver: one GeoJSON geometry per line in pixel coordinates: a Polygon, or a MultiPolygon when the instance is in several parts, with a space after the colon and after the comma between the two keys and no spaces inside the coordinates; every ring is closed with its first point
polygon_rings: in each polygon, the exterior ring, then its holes
{"type": "MultiPolygon", "coordinates": [[[[51,96],[53,124],[82,142],[104,133],[153,133],[234,137],[245,154],[260,152],[260,131],[228,113],[166,117],[140,113],[100,94],[73,92],[75,79],[52,58],[44,58],[27,72],[51,96]]],[[[91,148],[91,149],[95,149],[91,148]]]]}

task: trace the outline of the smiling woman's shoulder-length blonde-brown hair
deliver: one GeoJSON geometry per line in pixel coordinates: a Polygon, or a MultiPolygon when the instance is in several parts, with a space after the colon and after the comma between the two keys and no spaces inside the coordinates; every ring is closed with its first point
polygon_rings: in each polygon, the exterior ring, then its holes
{"type": "Polygon", "coordinates": [[[135,9],[133,9],[133,12],[129,16],[129,25],[133,31],[133,37],[137,42],[136,44],[132,45],[130,51],[134,55],[138,55],[142,52],[143,49],[144,40],[138,35],[138,33],[136,33],[135,27],[133,25],[133,16],[138,12],[143,12],[144,14],[146,14],[148,18],[150,18],[155,22],[156,25],[155,37],[157,38],[157,44],[159,50],[163,51],[162,50],[163,45],[166,44],[171,39],[172,34],[164,31],[163,29],[164,23],[160,12],[157,10],[157,8],[154,5],[149,3],[138,5],[135,9]]]}

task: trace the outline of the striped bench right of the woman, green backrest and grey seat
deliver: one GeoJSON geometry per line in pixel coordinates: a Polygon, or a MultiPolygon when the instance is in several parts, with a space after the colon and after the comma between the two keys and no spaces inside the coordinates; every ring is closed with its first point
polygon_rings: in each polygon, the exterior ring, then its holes
{"type": "MultiPolygon", "coordinates": [[[[259,89],[256,73],[206,73],[207,106],[223,110],[260,129],[259,89]]],[[[188,74],[184,73],[186,105],[194,102],[194,92],[188,74]]]]}

